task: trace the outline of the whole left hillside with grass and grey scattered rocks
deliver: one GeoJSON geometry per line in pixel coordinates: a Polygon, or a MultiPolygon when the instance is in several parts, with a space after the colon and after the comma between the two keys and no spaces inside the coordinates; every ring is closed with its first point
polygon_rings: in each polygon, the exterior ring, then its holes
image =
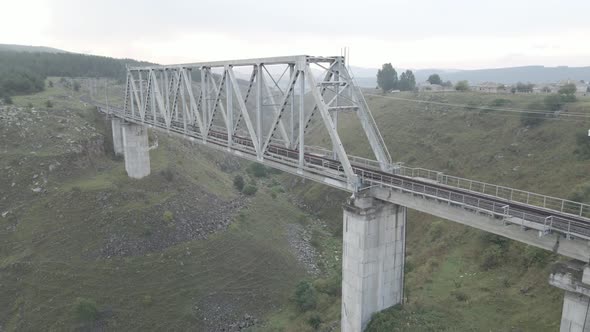
{"type": "Polygon", "coordinates": [[[279,175],[152,133],[129,179],[82,92],[0,106],[0,329],[237,331],[290,303],[316,226],[279,175]]]}

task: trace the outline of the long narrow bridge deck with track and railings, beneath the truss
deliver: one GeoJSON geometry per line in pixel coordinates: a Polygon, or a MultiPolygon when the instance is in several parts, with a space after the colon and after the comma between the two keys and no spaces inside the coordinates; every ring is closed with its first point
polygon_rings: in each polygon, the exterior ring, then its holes
{"type": "MultiPolygon", "coordinates": [[[[107,113],[100,106],[99,109],[107,113]]],[[[148,125],[197,143],[232,152],[246,159],[258,160],[252,142],[245,137],[234,136],[229,148],[227,133],[224,131],[211,130],[208,137],[203,139],[196,128],[184,128],[182,123],[173,122],[167,127],[163,119],[154,121],[149,114],[146,114],[142,121],[140,118],[134,118],[129,112],[124,114],[120,109],[110,108],[109,111],[109,114],[131,123],[148,125]]],[[[301,167],[297,150],[272,144],[265,152],[263,163],[351,191],[346,185],[346,175],[340,162],[331,159],[331,153],[317,147],[306,147],[305,164],[301,167]]],[[[389,188],[425,200],[461,207],[476,214],[486,214],[505,223],[536,229],[541,231],[541,234],[557,232],[568,238],[590,240],[588,205],[399,164],[391,165],[391,172],[384,172],[380,170],[377,161],[355,156],[349,158],[355,174],[365,188],[389,188]]]]}

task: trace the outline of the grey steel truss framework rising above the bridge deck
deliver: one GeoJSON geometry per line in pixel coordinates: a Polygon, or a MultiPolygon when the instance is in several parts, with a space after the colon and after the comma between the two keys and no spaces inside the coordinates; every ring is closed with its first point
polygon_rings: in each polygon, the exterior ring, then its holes
{"type": "Polygon", "coordinates": [[[357,115],[377,161],[387,170],[391,157],[344,57],[299,55],[127,70],[126,117],[206,144],[223,143],[230,151],[246,150],[260,162],[276,145],[300,151],[298,167],[303,169],[305,135],[319,117],[314,125],[328,134],[346,187],[358,190],[360,180],[337,132],[341,112],[357,115]],[[244,145],[244,140],[250,143],[244,145]]]}

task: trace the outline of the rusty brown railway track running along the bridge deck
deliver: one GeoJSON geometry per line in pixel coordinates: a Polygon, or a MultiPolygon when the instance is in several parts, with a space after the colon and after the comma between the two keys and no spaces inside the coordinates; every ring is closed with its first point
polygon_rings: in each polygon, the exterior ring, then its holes
{"type": "MultiPolygon", "coordinates": [[[[185,130],[182,122],[173,121],[168,127],[161,116],[156,116],[156,119],[154,119],[151,114],[146,114],[142,121],[139,117],[134,117],[130,112],[126,114],[123,114],[122,110],[112,112],[112,107],[110,110],[110,113],[105,113],[121,117],[129,122],[148,124],[162,131],[173,131],[187,138],[196,138],[198,142],[202,140],[198,128],[192,125],[189,126],[188,130],[185,130]]],[[[102,111],[104,112],[104,110],[102,111]]],[[[211,128],[205,141],[227,149],[227,132],[214,129],[217,128],[211,128]]],[[[256,157],[254,144],[249,138],[234,135],[232,137],[232,143],[232,149],[256,157]]],[[[325,155],[327,152],[330,152],[329,155],[331,155],[331,151],[329,150],[306,146],[304,153],[306,171],[346,183],[346,176],[342,165],[339,161],[327,157],[325,155]]],[[[265,159],[269,159],[285,167],[298,169],[300,168],[298,156],[299,151],[296,149],[269,144],[265,159]]],[[[544,233],[555,231],[565,234],[567,237],[590,240],[590,219],[582,215],[576,216],[547,207],[540,207],[502,197],[494,197],[486,194],[485,190],[482,193],[459,186],[450,186],[448,185],[448,179],[460,178],[446,175],[442,175],[441,177],[442,173],[436,171],[396,165],[397,168],[394,168],[393,173],[388,173],[381,171],[379,169],[379,163],[375,160],[353,156],[350,157],[350,160],[354,173],[359,176],[365,186],[386,187],[402,193],[418,195],[424,199],[462,207],[472,210],[475,213],[486,213],[495,218],[502,219],[506,223],[517,223],[523,227],[525,225],[534,225],[536,229],[544,233]],[[420,175],[425,177],[421,177],[420,175]],[[442,182],[440,181],[441,179],[442,182]]],[[[483,182],[474,183],[485,184],[483,182]]],[[[515,189],[512,190],[516,191],[515,189]]]]}

